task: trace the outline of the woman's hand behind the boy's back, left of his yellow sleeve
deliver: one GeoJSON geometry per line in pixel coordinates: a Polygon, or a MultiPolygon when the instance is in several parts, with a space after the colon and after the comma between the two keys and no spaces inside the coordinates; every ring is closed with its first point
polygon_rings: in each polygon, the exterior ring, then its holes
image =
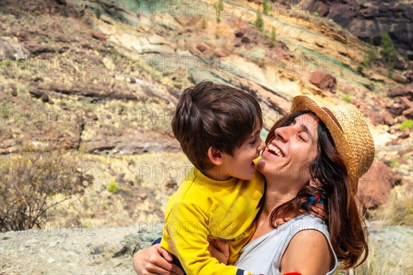
{"type": "Polygon", "coordinates": [[[136,274],[182,275],[182,270],[174,265],[172,256],[159,244],[152,245],[134,254],[133,265],[136,274]]]}

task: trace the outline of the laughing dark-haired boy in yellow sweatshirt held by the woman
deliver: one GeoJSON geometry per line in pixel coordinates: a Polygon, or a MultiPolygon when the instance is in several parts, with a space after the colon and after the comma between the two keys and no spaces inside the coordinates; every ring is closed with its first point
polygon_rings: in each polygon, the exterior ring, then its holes
{"type": "Polygon", "coordinates": [[[244,274],[211,257],[208,245],[229,241],[228,263],[235,263],[255,230],[264,177],[253,160],[265,147],[262,126],[257,100],[239,89],[204,81],[180,96],[173,134],[195,167],[167,204],[160,246],[188,274],[244,274]]]}

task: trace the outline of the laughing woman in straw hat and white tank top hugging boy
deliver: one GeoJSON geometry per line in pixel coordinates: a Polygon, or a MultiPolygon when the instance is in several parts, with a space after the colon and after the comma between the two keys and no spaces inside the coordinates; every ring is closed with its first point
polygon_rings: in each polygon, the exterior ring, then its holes
{"type": "MultiPolygon", "coordinates": [[[[349,104],[329,110],[297,96],[266,144],[257,163],[266,177],[264,206],[235,265],[257,274],[334,274],[337,260],[343,269],[365,261],[366,231],[354,195],[374,159],[374,142],[361,112],[349,104]],[[306,214],[319,197],[327,225],[306,214]]],[[[158,247],[138,252],[136,272],[180,274],[160,254],[169,259],[158,247]]]]}

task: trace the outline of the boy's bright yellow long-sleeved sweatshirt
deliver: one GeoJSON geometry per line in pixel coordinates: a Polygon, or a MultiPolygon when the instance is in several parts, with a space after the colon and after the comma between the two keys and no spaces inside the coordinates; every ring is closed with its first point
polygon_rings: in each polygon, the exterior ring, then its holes
{"type": "Polygon", "coordinates": [[[263,194],[264,177],[257,171],[250,181],[215,181],[192,168],[169,199],[160,246],[178,257],[187,274],[243,274],[211,257],[209,240],[229,241],[228,264],[235,263],[253,235],[263,194]]]}

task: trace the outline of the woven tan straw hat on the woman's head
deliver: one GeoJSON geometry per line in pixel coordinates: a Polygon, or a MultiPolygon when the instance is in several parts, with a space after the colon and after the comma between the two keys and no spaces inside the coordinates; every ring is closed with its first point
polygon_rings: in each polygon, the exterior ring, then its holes
{"type": "Polygon", "coordinates": [[[291,111],[304,110],[313,111],[326,124],[348,170],[352,195],[356,195],[359,178],[367,172],[374,159],[374,142],[366,118],[352,104],[328,109],[319,107],[307,96],[293,98],[291,111]]]}

